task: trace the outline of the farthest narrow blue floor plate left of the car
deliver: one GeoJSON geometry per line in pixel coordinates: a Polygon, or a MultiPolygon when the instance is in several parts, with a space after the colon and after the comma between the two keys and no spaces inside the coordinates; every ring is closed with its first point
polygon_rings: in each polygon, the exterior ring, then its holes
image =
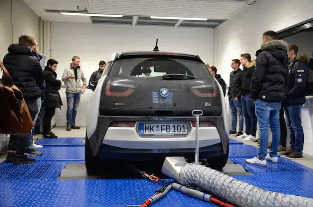
{"type": "Polygon", "coordinates": [[[69,137],[69,138],[42,138],[36,141],[36,144],[43,146],[63,146],[63,145],[83,145],[83,137],[69,137]]]}

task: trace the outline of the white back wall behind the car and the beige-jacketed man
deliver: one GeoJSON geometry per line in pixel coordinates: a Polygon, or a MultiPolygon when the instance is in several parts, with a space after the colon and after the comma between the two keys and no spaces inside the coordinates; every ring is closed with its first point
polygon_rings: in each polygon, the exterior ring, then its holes
{"type": "MultiPolygon", "coordinates": [[[[81,67],[89,80],[100,60],[107,61],[113,52],[152,51],[158,38],[160,51],[197,53],[213,62],[213,29],[120,26],[98,24],[52,23],[51,57],[58,62],[58,78],[74,55],[81,57],[81,67]]],[[[82,95],[77,125],[86,125],[86,107],[91,90],[82,95]]],[[[57,110],[55,123],[66,125],[66,98],[61,89],[62,110],[57,110]]]]}

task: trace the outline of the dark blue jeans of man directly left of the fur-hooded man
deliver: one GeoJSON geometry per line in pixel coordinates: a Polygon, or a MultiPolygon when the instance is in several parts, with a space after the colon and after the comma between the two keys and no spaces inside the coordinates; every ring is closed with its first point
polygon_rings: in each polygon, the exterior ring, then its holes
{"type": "Polygon", "coordinates": [[[256,116],[254,101],[251,99],[251,95],[241,96],[241,106],[243,109],[246,125],[246,134],[255,137],[256,134],[256,116]]]}

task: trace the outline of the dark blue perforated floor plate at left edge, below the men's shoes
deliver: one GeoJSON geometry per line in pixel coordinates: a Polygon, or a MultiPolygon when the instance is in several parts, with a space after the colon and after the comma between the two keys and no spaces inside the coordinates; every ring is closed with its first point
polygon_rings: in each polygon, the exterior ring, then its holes
{"type": "Polygon", "coordinates": [[[35,162],[25,165],[0,164],[0,180],[57,180],[67,162],[35,162]]]}

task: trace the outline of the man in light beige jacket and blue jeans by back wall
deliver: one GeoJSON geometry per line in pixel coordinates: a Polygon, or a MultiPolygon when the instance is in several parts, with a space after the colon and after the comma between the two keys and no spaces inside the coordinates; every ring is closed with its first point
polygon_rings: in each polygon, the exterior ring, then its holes
{"type": "Polygon", "coordinates": [[[67,99],[67,127],[66,130],[80,129],[75,124],[77,108],[80,104],[81,94],[85,93],[87,80],[80,67],[80,57],[74,56],[72,63],[64,69],[62,81],[66,86],[66,99],[67,99]]]}

